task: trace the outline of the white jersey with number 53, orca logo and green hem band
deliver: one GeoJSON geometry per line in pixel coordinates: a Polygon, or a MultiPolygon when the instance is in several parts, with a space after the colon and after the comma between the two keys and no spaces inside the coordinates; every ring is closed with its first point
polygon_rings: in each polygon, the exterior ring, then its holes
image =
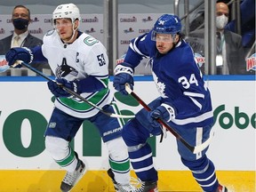
{"type": "MultiPolygon", "coordinates": [[[[74,81],[94,76],[105,88],[98,92],[82,92],[81,95],[100,108],[111,102],[112,95],[108,89],[108,55],[100,41],[82,33],[74,43],[63,44],[55,30],[48,32],[43,41],[42,52],[56,78],[74,81]]],[[[56,98],[55,106],[71,116],[81,118],[91,117],[99,112],[84,101],[71,98],[56,98]]]]}

